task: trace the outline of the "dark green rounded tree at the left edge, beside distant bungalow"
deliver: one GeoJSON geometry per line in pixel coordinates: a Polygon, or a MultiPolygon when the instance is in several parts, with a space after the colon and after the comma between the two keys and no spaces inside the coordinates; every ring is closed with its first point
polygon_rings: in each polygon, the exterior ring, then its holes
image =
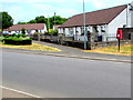
{"type": "Polygon", "coordinates": [[[0,19],[0,23],[2,22],[2,29],[13,26],[13,19],[8,12],[0,12],[0,16],[2,16],[2,19],[0,19]]]}

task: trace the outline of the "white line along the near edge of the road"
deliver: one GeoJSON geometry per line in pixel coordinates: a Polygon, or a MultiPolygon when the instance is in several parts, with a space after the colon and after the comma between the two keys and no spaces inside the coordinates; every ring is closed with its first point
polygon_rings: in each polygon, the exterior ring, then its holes
{"type": "Polygon", "coordinates": [[[28,92],[23,92],[23,91],[19,91],[19,90],[16,90],[16,89],[7,88],[7,87],[3,87],[3,86],[0,86],[0,88],[6,89],[6,90],[10,90],[10,91],[13,91],[13,92],[17,92],[17,93],[21,93],[21,94],[24,94],[24,96],[29,96],[29,97],[32,97],[32,98],[41,98],[39,96],[34,96],[34,94],[31,94],[31,93],[28,93],[28,92]]]}

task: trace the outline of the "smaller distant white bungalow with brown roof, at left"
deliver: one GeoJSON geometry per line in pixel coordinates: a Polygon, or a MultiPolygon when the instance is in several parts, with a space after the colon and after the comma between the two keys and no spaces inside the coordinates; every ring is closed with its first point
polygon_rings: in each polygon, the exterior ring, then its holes
{"type": "Polygon", "coordinates": [[[25,29],[25,34],[47,31],[45,23],[14,24],[8,29],[10,33],[21,33],[25,29]]]}

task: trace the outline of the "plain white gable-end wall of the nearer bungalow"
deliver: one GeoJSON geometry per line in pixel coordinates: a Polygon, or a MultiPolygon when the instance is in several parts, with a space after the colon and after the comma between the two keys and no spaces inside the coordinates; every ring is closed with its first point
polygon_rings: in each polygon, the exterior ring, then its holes
{"type": "Polygon", "coordinates": [[[126,9],[124,9],[114,20],[108,24],[108,41],[114,41],[117,28],[123,28],[126,26],[126,9]]]}

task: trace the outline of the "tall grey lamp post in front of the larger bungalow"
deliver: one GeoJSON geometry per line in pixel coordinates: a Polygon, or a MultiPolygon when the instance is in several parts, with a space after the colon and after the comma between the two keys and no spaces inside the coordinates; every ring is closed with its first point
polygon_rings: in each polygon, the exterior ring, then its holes
{"type": "Polygon", "coordinates": [[[83,0],[83,32],[84,32],[84,50],[86,50],[86,28],[85,28],[85,23],[86,22],[86,18],[85,18],[85,4],[84,4],[84,0],[83,0]]]}

